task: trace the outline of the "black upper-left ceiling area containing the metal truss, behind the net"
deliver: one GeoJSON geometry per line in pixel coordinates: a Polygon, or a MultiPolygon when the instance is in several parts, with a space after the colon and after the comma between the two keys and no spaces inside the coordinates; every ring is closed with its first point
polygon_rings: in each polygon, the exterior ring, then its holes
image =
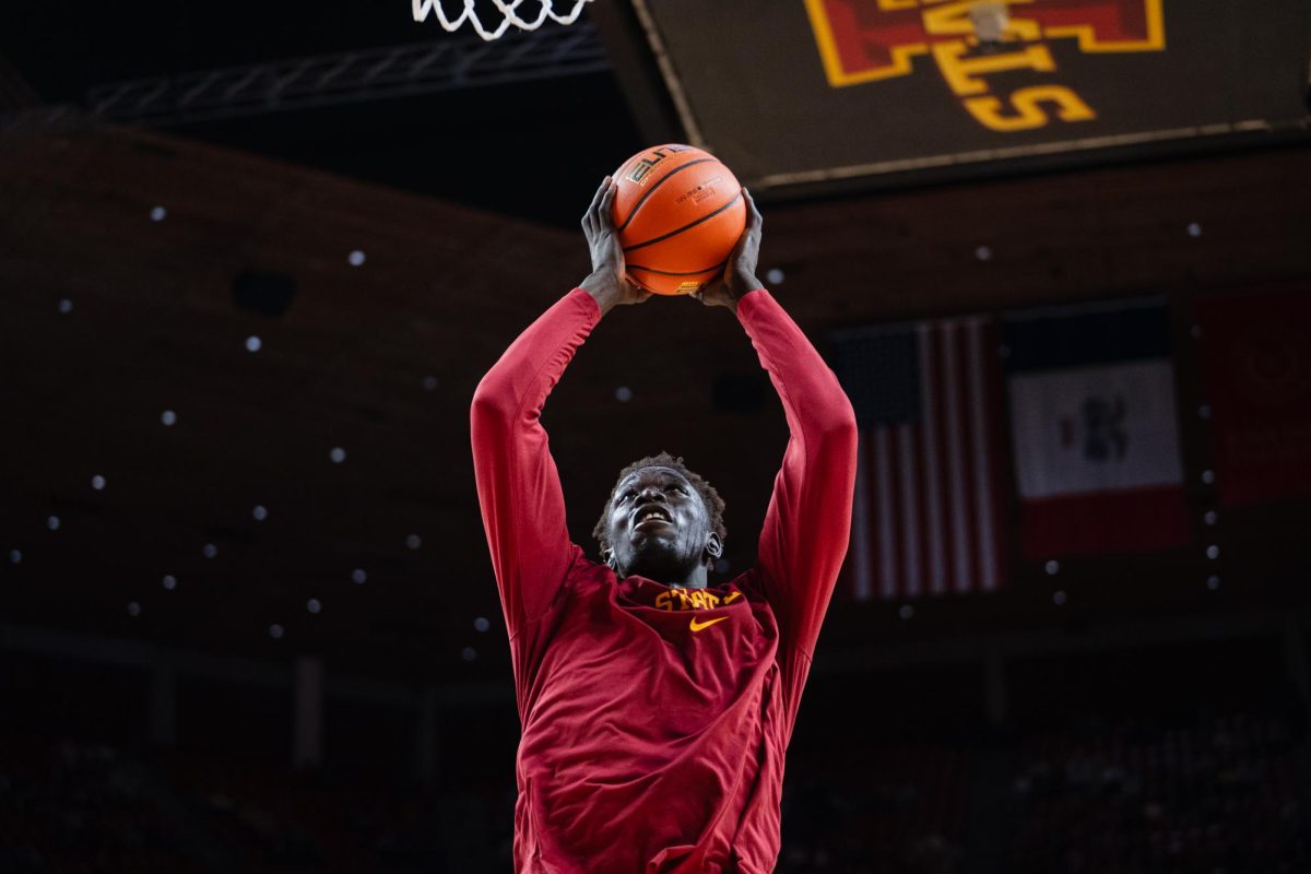
{"type": "Polygon", "coordinates": [[[0,60],[47,106],[570,229],[645,145],[586,18],[489,45],[402,0],[20,0],[0,60]]]}

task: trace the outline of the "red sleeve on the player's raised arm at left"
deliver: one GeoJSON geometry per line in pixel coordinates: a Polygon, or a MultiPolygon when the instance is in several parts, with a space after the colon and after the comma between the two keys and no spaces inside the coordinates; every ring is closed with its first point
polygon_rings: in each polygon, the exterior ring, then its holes
{"type": "Polygon", "coordinates": [[[573,558],[541,408],[600,320],[576,288],[510,345],[473,393],[473,474],[510,638],[539,618],[573,558]]]}

